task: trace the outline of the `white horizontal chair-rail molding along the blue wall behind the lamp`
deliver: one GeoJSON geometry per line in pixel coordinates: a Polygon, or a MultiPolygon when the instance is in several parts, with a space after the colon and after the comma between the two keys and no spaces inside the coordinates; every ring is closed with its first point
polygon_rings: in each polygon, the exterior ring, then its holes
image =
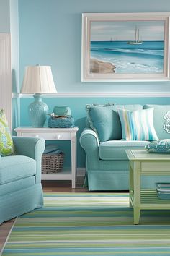
{"type": "MultiPolygon", "coordinates": [[[[13,93],[13,98],[32,98],[33,94],[13,93]]],[[[89,93],[50,93],[44,98],[170,98],[168,92],[89,92],[89,93]]]]}

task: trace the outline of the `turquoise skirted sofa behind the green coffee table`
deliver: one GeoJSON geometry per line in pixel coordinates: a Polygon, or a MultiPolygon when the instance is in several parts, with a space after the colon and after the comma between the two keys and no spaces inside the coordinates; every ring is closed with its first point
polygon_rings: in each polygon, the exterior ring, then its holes
{"type": "MultiPolygon", "coordinates": [[[[117,108],[130,111],[154,108],[153,124],[158,139],[170,139],[170,105],[87,106],[86,128],[81,134],[80,144],[86,153],[84,186],[89,190],[128,190],[129,164],[125,150],[143,149],[149,143],[143,140],[121,140],[117,108]]],[[[141,185],[151,188],[155,187],[155,182],[165,181],[170,182],[170,176],[143,176],[141,185]]]]}

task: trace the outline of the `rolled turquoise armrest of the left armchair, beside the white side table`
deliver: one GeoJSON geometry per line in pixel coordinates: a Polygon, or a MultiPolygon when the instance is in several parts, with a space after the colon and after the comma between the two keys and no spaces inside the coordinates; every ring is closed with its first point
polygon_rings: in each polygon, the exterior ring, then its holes
{"type": "Polygon", "coordinates": [[[45,140],[36,137],[12,137],[14,145],[17,149],[17,155],[26,155],[36,161],[35,182],[41,182],[41,162],[42,153],[45,150],[45,140]]]}

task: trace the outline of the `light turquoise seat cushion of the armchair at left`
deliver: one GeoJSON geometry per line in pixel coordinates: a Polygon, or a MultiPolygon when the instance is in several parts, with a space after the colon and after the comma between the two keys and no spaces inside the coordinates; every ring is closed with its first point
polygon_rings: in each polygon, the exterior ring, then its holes
{"type": "Polygon", "coordinates": [[[0,159],[0,185],[23,179],[36,173],[36,161],[24,155],[9,155],[0,159]]]}

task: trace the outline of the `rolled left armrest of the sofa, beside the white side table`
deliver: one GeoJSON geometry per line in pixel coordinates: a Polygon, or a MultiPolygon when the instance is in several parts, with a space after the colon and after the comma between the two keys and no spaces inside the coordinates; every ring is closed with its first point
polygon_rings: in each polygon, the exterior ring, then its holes
{"type": "Polygon", "coordinates": [[[85,128],[80,136],[81,147],[86,153],[86,170],[99,168],[99,138],[91,128],[85,128]]]}

